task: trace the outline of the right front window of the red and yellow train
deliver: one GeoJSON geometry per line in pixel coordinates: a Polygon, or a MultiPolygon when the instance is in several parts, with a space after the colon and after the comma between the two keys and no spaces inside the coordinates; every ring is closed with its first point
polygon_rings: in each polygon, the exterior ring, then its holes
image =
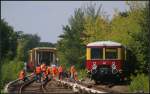
{"type": "Polygon", "coordinates": [[[117,48],[106,48],[106,59],[117,59],[117,48]]]}

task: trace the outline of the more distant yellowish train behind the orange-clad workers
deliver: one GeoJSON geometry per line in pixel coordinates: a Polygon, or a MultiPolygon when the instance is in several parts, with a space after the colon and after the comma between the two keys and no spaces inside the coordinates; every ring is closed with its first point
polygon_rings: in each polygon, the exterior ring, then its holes
{"type": "Polygon", "coordinates": [[[56,48],[36,47],[29,51],[27,70],[33,71],[37,65],[45,63],[46,65],[57,64],[58,58],[56,48]]]}

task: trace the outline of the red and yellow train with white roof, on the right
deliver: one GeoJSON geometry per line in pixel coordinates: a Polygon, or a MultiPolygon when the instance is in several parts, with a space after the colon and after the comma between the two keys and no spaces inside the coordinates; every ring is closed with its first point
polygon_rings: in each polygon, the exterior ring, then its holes
{"type": "Polygon", "coordinates": [[[124,81],[126,47],[114,41],[96,41],[86,45],[86,69],[96,84],[124,81]]]}

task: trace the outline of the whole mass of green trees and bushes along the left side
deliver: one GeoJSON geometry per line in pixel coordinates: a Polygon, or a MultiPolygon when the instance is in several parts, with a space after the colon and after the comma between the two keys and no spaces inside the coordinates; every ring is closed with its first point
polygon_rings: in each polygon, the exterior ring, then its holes
{"type": "Polygon", "coordinates": [[[36,47],[40,38],[14,31],[4,19],[1,19],[0,26],[0,85],[3,88],[7,82],[17,78],[23,61],[27,60],[28,50],[36,47]]]}

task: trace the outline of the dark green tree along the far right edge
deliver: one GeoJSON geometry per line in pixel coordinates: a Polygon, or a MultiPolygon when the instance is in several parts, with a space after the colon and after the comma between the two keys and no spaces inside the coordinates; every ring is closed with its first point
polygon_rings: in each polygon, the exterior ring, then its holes
{"type": "Polygon", "coordinates": [[[150,68],[150,12],[149,12],[149,1],[146,2],[145,7],[142,9],[143,19],[140,20],[140,25],[142,27],[141,31],[136,36],[135,39],[139,41],[140,45],[138,48],[138,54],[143,58],[140,59],[140,72],[148,73],[150,68]]]}

